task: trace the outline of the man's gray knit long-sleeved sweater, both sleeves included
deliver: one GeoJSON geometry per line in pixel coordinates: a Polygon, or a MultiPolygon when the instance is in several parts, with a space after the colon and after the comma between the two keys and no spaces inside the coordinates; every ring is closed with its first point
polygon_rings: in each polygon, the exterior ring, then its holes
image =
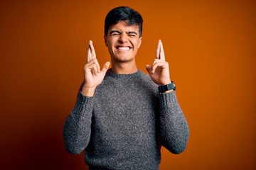
{"type": "Polygon", "coordinates": [[[141,70],[107,71],[93,97],[79,91],[63,128],[72,154],[85,149],[90,169],[159,169],[161,145],[178,154],[186,149],[188,124],[175,91],[158,92],[141,70]]]}

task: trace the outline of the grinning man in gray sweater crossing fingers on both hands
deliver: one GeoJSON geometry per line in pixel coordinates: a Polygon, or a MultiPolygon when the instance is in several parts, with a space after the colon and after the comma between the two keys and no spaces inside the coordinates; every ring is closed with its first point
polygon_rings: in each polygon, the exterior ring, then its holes
{"type": "Polygon", "coordinates": [[[175,94],[169,64],[159,40],[156,59],[137,69],[142,44],[142,16],[127,6],[105,18],[105,45],[110,62],[102,69],[92,41],[84,81],[64,125],[68,152],[80,154],[93,169],[159,169],[161,145],[174,154],[186,149],[188,124],[175,94]]]}

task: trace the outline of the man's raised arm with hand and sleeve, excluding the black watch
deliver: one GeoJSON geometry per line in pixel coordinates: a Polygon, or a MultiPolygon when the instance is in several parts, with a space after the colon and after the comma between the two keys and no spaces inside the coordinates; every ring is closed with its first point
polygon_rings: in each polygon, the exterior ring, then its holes
{"type": "MultiPolygon", "coordinates": [[[[171,84],[169,63],[165,61],[161,40],[156,47],[156,59],[151,66],[146,65],[146,70],[154,83],[159,86],[171,84]]],[[[160,93],[159,120],[161,144],[174,154],[183,152],[188,142],[188,123],[178,104],[174,90],[160,93]]]]}

